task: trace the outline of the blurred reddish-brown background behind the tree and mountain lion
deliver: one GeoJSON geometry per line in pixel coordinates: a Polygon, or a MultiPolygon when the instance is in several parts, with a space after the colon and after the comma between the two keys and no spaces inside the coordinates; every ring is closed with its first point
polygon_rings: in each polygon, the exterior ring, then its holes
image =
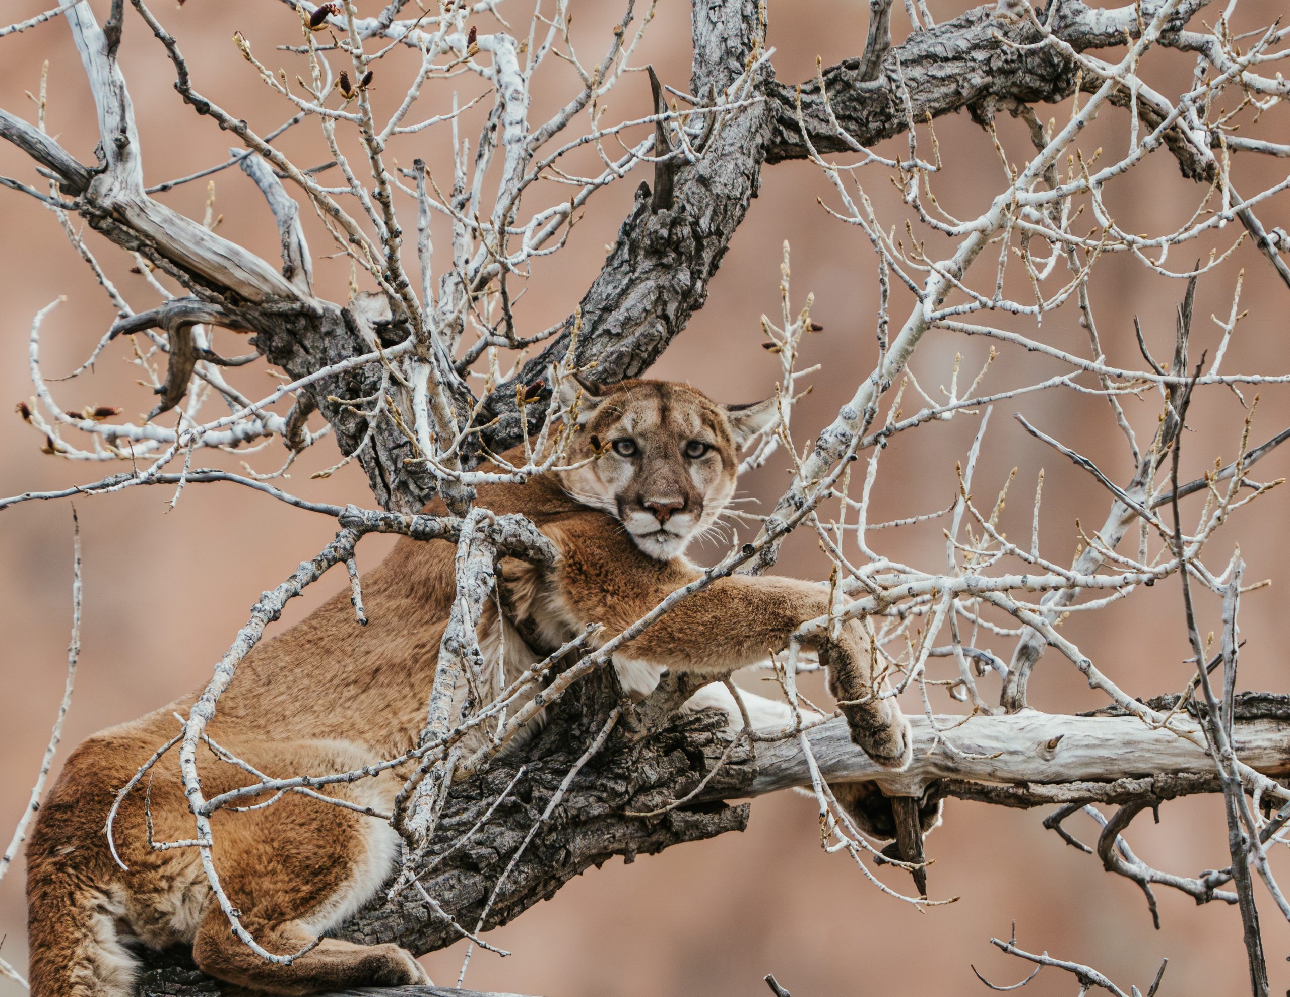
{"type": "MultiPolygon", "coordinates": [[[[94,0],[99,15],[106,4],[94,0]]],[[[4,5],[0,19],[9,22],[39,12],[44,3],[15,0],[4,5]]],[[[510,17],[517,31],[526,22],[525,10],[510,17]]],[[[931,0],[942,19],[965,9],[962,0],[931,0]]],[[[360,12],[374,14],[374,0],[360,0],[360,12]]],[[[577,19],[579,54],[599,58],[606,30],[620,14],[617,5],[571,4],[577,19]]],[[[157,3],[156,12],[178,36],[195,68],[196,85],[235,114],[245,116],[263,134],[285,120],[290,111],[268,94],[259,79],[236,54],[231,35],[241,30],[255,52],[271,67],[281,61],[297,71],[292,57],[275,53],[272,45],[295,40],[294,14],[268,0],[190,0],[181,8],[157,3]]],[[[1246,0],[1238,9],[1236,27],[1267,25],[1282,12],[1277,0],[1246,0]]],[[[644,12],[639,10],[637,17],[644,12]]],[[[770,44],[780,80],[805,80],[814,74],[815,57],[826,64],[863,49],[867,5],[855,0],[800,0],[770,5],[770,44]]],[[[1213,17],[1218,10],[1213,12],[1213,17]]],[[[1213,21],[1213,17],[1210,21],[1213,21]]],[[[898,35],[906,27],[894,18],[898,35]]],[[[480,31],[493,30],[481,18],[480,31]]],[[[0,41],[4,55],[0,71],[0,106],[35,116],[23,95],[35,92],[40,66],[50,61],[49,130],[83,161],[93,161],[93,102],[80,63],[62,21],[0,41]]],[[[128,68],[142,132],[147,181],[156,183],[184,175],[218,161],[227,148],[227,135],[208,120],[197,119],[174,94],[170,66],[159,45],[144,36],[143,25],[128,14],[123,63],[128,68]]],[[[657,22],[650,27],[635,64],[653,63],[664,81],[686,86],[689,81],[689,4],[662,0],[657,22]]],[[[402,55],[378,71],[378,111],[388,112],[402,93],[400,72],[410,68],[402,55]],[[396,71],[397,68],[397,71],[396,71]]],[[[1148,66],[1151,62],[1148,62],[1148,66]]],[[[1166,94],[1186,89],[1192,63],[1167,53],[1147,70],[1166,94]],[[1152,75],[1155,74],[1155,75],[1152,75]]],[[[301,70],[303,72],[303,70],[301,70]]],[[[552,64],[537,86],[533,120],[550,112],[571,93],[573,75],[552,64]]],[[[462,99],[482,85],[471,77],[458,83],[462,99]]],[[[421,116],[448,110],[452,84],[427,88],[421,116]]],[[[641,76],[628,76],[608,103],[610,117],[626,119],[649,112],[648,86],[641,76]]],[[[1066,114],[1066,108],[1041,108],[1041,115],[1066,114]]],[[[417,115],[412,120],[419,120],[417,115]]],[[[479,117],[470,119],[463,134],[477,134],[479,117]]],[[[1284,137],[1285,116],[1269,116],[1255,132],[1284,137]]],[[[298,163],[325,159],[316,123],[298,126],[280,143],[298,163]]],[[[1090,130],[1081,147],[1087,152],[1104,144],[1107,155],[1124,150],[1127,125],[1124,115],[1108,110],[1090,130]]],[[[393,155],[410,163],[422,155],[437,177],[450,175],[444,130],[431,130],[404,139],[393,155]]],[[[1002,170],[988,137],[966,116],[937,123],[946,156],[946,173],[934,179],[938,197],[960,217],[975,215],[1000,188],[1002,170]]],[[[1024,161],[1028,143],[1011,119],[1000,121],[1000,135],[1014,161],[1024,161]]],[[[924,133],[922,139],[926,141],[924,133]]],[[[906,139],[882,150],[903,155],[906,139]]],[[[590,166],[588,166],[590,168],[590,166]]],[[[1276,163],[1241,160],[1237,166],[1242,191],[1285,175],[1276,163]]],[[[28,164],[9,147],[0,147],[0,172],[40,183],[28,164]]],[[[334,172],[325,174],[335,177],[334,172]]],[[[217,212],[224,218],[219,232],[276,261],[276,237],[268,212],[250,182],[237,170],[215,177],[217,212]]],[[[338,182],[329,179],[329,182],[338,182]]],[[[626,214],[636,178],[610,187],[593,199],[586,219],[575,230],[566,252],[535,267],[521,312],[521,334],[535,331],[566,315],[604,257],[604,244],[626,214]]],[[[886,224],[903,226],[907,210],[881,170],[866,178],[886,224]]],[[[559,196],[562,191],[552,196],[559,196]]],[[[1182,224],[1195,209],[1201,188],[1179,178],[1166,153],[1153,156],[1108,190],[1108,202],[1117,221],[1130,231],[1164,232],[1182,224]]],[[[873,316],[877,281],[873,255],[863,233],[831,221],[815,204],[829,200],[827,184],[806,164],[768,168],[761,196],[734,239],[720,273],[712,281],[707,307],[694,317],[655,366],[658,377],[686,379],[726,401],[749,401],[766,395],[778,365],[764,353],[757,319],[762,312],[778,316],[780,245],[793,246],[793,299],[815,293],[813,317],[826,326],[808,342],[806,362],[822,362],[813,375],[814,393],[796,417],[801,441],[823,426],[850,396],[858,378],[873,362],[873,316]]],[[[205,182],[181,187],[164,199],[195,217],[201,217],[205,182]]],[[[836,202],[836,201],[831,201],[836,202]]],[[[406,201],[402,204],[408,209],[406,201]]],[[[333,252],[311,213],[307,215],[315,252],[317,286],[324,297],[343,299],[348,264],[321,257],[333,252]]],[[[1286,224],[1286,201],[1273,200],[1260,209],[1265,224],[1286,224]]],[[[410,213],[408,215],[412,217],[410,213]]],[[[437,223],[437,222],[436,222],[437,223]]],[[[1091,226],[1093,222],[1090,221],[1091,226]]],[[[1228,226],[1213,239],[1175,250],[1169,263],[1186,268],[1211,246],[1227,246],[1237,236],[1228,226]]],[[[46,375],[76,366],[111,324],[112,310],[88,268],[76,258],[50,213],[19,193],[0,195],[0,280],[3,280],[3,339],[0,339],[0,400],[5,406],[31,393],[27,373],[27,334],[34,313],[59,294],[67,295],[46,321],[43,361],[46,375]]],[[[920,237],[922,237],[920,235],[920,237]]],[[[442,253],[446,231],[436,228],[436,246],[442,253]]],[[[121,290],[137,310],[151,307],[155,294],[141,276],[130,275],[132,261],[92,235],[99,254],[121,290]]],[[[933,240],[934,252],[937,242],[933,240]]],[[[1236,275],[1245,273],[1242,307],[1250,315],[1238,328],[1224,362],[1226,371],[1285,373],[1290,370],[1286,343],[1286,288],[1267,262],[1249,245],[1215,272],[1201,280],[1196,307],[1193,351],[1213,351],[1218,333],[1209,316],[1226,319],[1236,275]]],[[[992,262],[978,264],[989,280],[992,262]]],[[[1142,317],[1153,351],[1167,357],[1173,341],[1174,304],[1180,281],[1151,273],[1122,257],[1103,259],[1093,282],[1093,299],[1103,343],[1113,361],[1140,365],[1133,342],[1131,317],[1142,317]]],[[[1023,288],[1015,294],[1026,299],[1023,288]]],[[[909,297],[897,291],[893,322],[907,313],[909,297]]],[[[1009,316],[992,316],[1007,324],[1009,316]]],[[[1049,316],[1038,333],[1045,341],[1086,353],[1087,342],[1078,329],[1077,313],[1066,310],[1049,316]]],[[[1035,334],[1032,322],[1013,322],[1035,334]]],[[[221,333],[224,352],[241,352],[221,333]]],[[[913,361],[920,383],[929,392],[949,383],[955,353],[964,353],[968,378],[979,369],[988,343],[965,342],[947,333],[930,333],[913,361]]],[[[151,396],[133,384],[135,369],[126,365],[125,346],[107,351],[93,375],[53,386],[64,408],[84,404],[119,404],[128,414],[152,405],[151,396]]],[[[986,382],[986,391],[1033,383],[1060,373],[1053,361],[1005,351],[986,382]]],[[[254,366],[235,383],[253,395],[263,395],[273,382],[254,366]]],[[[964,383],[964,379],[960,379],[964,383]]],[[[1255,391],[1242,390],[1249,401],[1255,391]]],[[[1254,428],[1262,441],[1284,428],[1290,419],[1285,388],[1263,392],[1254,428]]],[[[1146,442],[1156,424],[1158,397],[1127,399],[1126,410],[1146,442]]],[[[921,408],[907,395],[906,413],[921,408]]],[[[1113,479],[1131,473],[1122,437],[1108,406],[1098,397],[1073,392],[1046,392],[996,406],[984,454],[978,467],[974,493],[992,495],[1007,471],[1019,476],[1004,528],[1023,535],[1029,529],[1029,497],[1035,475],[1047,468],[1042,539],[1049,556],[1069,557],[1077,542],[1075,520],[1094,529],[1106,516],[1108,499],[1091,479],[1027,436],[1010,418],[1023,410],[1041,428],[1078,445],[1113,479]]],[[[6,409],[8,410],[8,409],[6,409]]],[[[210,410],[214,410],[213,408],[210,410]]],[[[1232,392],[1210,388],[1192,409],[1184,444],[1184,475],[1198,475],[1216,455],[1224,462],[1235,451],[1242,409],[1232,392]]],[[[43,440],[14,415],[0,433],[0,493],[66,486],[97,480],[116,468],[103,464],[72,464],[40,453],[43,440]]],[[[962,459],[978,427],[979,417],[966,415],[934,424],[898,439],[882,459],[875,493],[873,520],[908,516],[943,508],[955,490],[955,462],[962,459]]],[[[169,423],[168,423],[169,424],[169,423]]],[[[782,457],[782,455],[780,455],[782,457]]],[[[236,469],[240,455],[199,455],[199,463],[219,463],[236,469]]],[[[275,469],[277,450],[245,455],[257,471],[275,469]]],[[[334,445],[324,442],[310,451],[284,486],[310,498],[330,502],[370,503],[365,481],[355,467],[328,481],[312,481],[308,473],[335,460],[334,445]]],[[[1255,477],[1271,480],[1286,473],[1290,453],[1277,451],[1258,468],[1255,477]]],[[[747,494],[773,502],[786,481],[783,460],[752,476],[747,494]]],[[[271,502],[233,485],[190,486],[174,512],[165,513],[169,490],[132,489],[121,494],[86,498],[77,503],[85,557],[85,619],[81,668],[76,698],[64,730],[70,747],[89,733],[129,720],[184,693],[206,680],[212,664],[226,649],[258,593],[276,584],[294,565],[316,552],[332,535],[333,524],[271,502]]],[[[1192,500],[1193,503],[1197,499],[1192,500]]],[[[1249,561],[1249,579],[1284,574],[1287,549],[1284,530],[1286,497],[1275,493],[1238,515],[1213,542],[1210,561],[1220,569],[1233,544],[1249,561]]],[[[1196,508],[1188,513],[1195,516],[1196,508]]],[[[917,565],[943,564],[944,539],[940,524],[877,534],[872,539],[893,556],[917,565]]],[[[364,542],[360,565],[372,565],[388,548],[386,538],[364,542]]],[[[708,549],[708,553],[713,548],[708,549]]],[[[0,513],[0,838],[8,841],[35,775],[40,752],[63,684],[64,646],[70,619],[71,529],[66,502],[30,503],[0,513]]],[[[809,537],[788,546],[780,570],[819,577],[820,558],[809,537]]],[[[293,604],[286,622],[299,619],[343,580],[332,575],[293,604]]],[[[1249,644],[1242,653],[1244,687],[1285,691],[1282,589],[1277,586],[1249,596],[1242,604],[1241,624],[1249,644]]],[[[1218,607],[1202,602],[1202,629],[1215,627],[1218,607]]],[[[279,624],[283,626],[283,624],[279,624]]],[[[1096,614],[1076,615],[1064,632],[1134,695],[1152,695],[1180,689],[1189,675],[1182,606],[1176,584],[1142,591],[1127,602],[1096,614]]],[[[983,638],[1005,659],[1011,641],[983,638]]],[[[946,660],[933,668],[946,668],[946,660]]],[[[984,680],[987,695],[997,682],[984,680]]],[[[1032,682],[1033,704],[1041,709],[1073,711],[1099,706],[1075,669],[1049,654],[1032,682]]],[[[943,695],[938,709],[949,709],[943,695]]],[[[916,704],[908,704],[917,708],[916,704]]],[[[1240,918],[1235,908],[1211,904],[1197,909],[1178,894],[1160,891],[1164,927],[1153,931],[1138,889],[1100,869],[1095,858],[1082,855],[1045,832],[1041,811],[1009,811],[949,801],[946,827],[929,841],[937,860],[930,871],[935,896],[958,896],[957,904],[918,913],[882,896],[842,856],[823,854],[818,842],[813,802],[780,796],[757,801],[749,829],[703,845],[641,858],[632,867],[615,862],[566,886],[551,903],[530,911],[516,923],[495,933],[493,942],[515,952],[506,960],[479,953],[468,984],[482,989],[521,991],[551,997],[590,994],[757,994],[761,976],[774,972],[797,997],[868,993],[978,993],[984,988],[973,978],[974,963],[998,983],[1020,979],[1028,967],[1000,954],[989,936],[1006,938],[1015,920],[1018,940],[1031,949],[1095,965],[1127,989],[1130,983],[1149,983],[1162,956],[1170,969],[1164,993],[1237,994],[1247,988],[1240,944],[1240,918]]],[[[1135,850],[1158,868],[1183,874],[1226,865],[1222,805],[1216,797],[1193,798],[1166,805],[1156,827],[1143,818],[1130,834],[1135,850]]],[[[1091,822],[1076,818],[1072,829],[1091,834],[1091,822]],[[1082,822],[1082,823],[1081,823],[1082,822]]],[[[1284,865],[1284,863],[1282,863],[1284,865]]],[[[0,935],[3,954],[17,966],[26,963],[25,908],[21,863],[0,885],[0,935]]],[[[890,873],[889,873],[890,877],[890,873]]],[[[895,882],[900,889],[907,881],[895,882]]],[[[1290,984],[1285,956],[1290,952],[1290,927],[1263,898],[1264,939],[1273,991],[1290,984]]],[[[455,979],[462,949],[435,953],[426,963],[436,982],[455,979]]],[[[1067,993],[1075,982],[1045,970],[1029,985],[1032,994],[1067,993]]],[[[18,993],[15,984],[0,980],[0,994],[18,993]]]]}

